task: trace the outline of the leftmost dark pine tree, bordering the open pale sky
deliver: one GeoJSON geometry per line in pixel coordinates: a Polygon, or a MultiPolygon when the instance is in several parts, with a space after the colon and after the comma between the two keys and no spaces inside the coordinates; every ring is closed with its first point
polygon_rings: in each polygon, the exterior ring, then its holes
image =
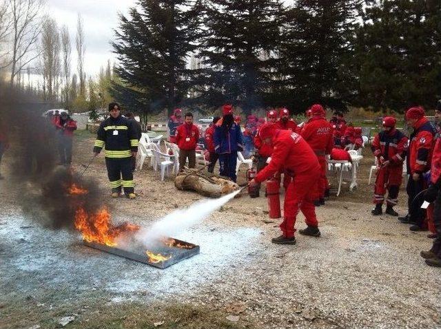
{"type": "MultiPolygon", "coordinates": [[[[116,74],[141,90],[145,109],[172,112],[189,87],[186,58],[196,47],[198,3],[189,0],[139,0],[129,17],[120,15],[112,43],[121,65],[116,74]]],[[[136,92],[133,96],[138,97],[136,92]]]]}

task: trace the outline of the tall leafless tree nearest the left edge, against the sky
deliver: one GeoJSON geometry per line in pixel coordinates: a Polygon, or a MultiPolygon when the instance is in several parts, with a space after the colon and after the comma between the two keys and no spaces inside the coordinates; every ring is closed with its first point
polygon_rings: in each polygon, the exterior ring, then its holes
{"type": "Polygon", "coordinates": [[[37,41],[43,25],[44,0],[7,0],[12,19],[10,85],[23,67],[39,56],[37,41]]]}

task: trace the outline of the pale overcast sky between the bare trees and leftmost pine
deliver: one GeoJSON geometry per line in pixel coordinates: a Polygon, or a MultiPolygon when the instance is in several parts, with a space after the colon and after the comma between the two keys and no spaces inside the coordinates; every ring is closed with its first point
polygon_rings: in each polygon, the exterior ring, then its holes
{"type": "Polygon", "coordinates": [[[115,59],[110,41],[114,39],[114,28],[119,25],[118,12],[127,14],[135,0],[47,0],[48,14],[59,26],[68,25],[72,41],[72,71],[76,71],[76,21],[83,17],[85,32],[85,72],[99,73],[107,59],[115,59]]]}

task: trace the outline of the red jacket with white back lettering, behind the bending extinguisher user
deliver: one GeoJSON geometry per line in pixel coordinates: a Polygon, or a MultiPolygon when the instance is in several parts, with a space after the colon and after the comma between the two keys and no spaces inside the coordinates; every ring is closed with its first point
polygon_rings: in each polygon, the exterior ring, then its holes
{"type": "Polygon", "coordinates": [[[317,156],[330,154],[334,147],[332,126],[325,118],[314,116],[300,133],[317,156]]]}

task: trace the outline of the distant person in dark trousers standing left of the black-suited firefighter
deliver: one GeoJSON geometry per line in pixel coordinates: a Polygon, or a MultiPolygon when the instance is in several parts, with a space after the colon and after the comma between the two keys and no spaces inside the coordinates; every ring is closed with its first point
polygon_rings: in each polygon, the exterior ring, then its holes
{"type": "Polygon", "coordinates": [[[63,112],[55,125],[59,131],[59,156],[60,165],[70,165],[72,163],[72,139],[76,130],[76,122],[63,112]]]}

